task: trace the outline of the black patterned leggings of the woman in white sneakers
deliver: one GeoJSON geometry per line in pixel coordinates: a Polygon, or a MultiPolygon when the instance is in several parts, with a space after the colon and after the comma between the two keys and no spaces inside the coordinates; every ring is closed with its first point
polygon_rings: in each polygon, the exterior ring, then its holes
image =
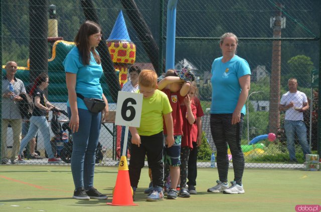
{"type": "Polygon", "coordinates": [[[232,125],[232,114],[211,114],[211,132],[217,149],[217,169],[222,182],[228,181],[229,159],[227,145],[229,145],[233,159],[234,181],[242,184],[245,165],[241,148],[243,119],[244,115],[241,114],[241,121],[232,125]]]}

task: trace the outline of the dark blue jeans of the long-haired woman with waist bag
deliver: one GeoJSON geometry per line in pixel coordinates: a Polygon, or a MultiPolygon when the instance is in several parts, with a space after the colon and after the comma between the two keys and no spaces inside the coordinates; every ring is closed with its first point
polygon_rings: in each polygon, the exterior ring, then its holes
{"type": "MultiPolygon", "coordinates": [[[[71,117],[70,107],[67,107],[71,117]]],[[[75,189],[89,189],[94,184],[96,148],[101,127],[101,112],[91,113],[78,108],[79,129],[72,133],[71,172],[75,189]]]]}

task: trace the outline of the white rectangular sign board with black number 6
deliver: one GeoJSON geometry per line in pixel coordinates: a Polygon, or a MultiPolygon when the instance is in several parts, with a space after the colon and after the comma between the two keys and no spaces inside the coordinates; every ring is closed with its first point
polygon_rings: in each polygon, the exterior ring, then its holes
{"type": "Polygon", "coordinates": [[[139,127],[142,105],[142,94],[118,92],[115,124],[139,127]]]}

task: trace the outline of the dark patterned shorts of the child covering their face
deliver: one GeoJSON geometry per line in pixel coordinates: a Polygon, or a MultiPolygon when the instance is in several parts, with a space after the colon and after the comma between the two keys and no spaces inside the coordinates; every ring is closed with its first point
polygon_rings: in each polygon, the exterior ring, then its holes
{"type": "MultiPolygon", "coordinates": [[[[165,136],[166,137],[166,136],[165,136]]],[[[170,148],[164,147],[163,161],[170,166],[181,165],[181,142],[182,135],[174,135],[174,144],[170,148]]]]}

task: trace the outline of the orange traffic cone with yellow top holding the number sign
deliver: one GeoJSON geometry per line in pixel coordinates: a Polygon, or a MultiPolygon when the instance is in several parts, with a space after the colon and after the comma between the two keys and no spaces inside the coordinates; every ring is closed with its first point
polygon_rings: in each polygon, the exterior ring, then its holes
{"type": "Polygon", "coordinates": [[[116,185],[110,205],[129,206],[137,205],[132,200],[132,188],[130,186],[128,165],[126,156],[121,156],[118,166],[116,185]]]}

